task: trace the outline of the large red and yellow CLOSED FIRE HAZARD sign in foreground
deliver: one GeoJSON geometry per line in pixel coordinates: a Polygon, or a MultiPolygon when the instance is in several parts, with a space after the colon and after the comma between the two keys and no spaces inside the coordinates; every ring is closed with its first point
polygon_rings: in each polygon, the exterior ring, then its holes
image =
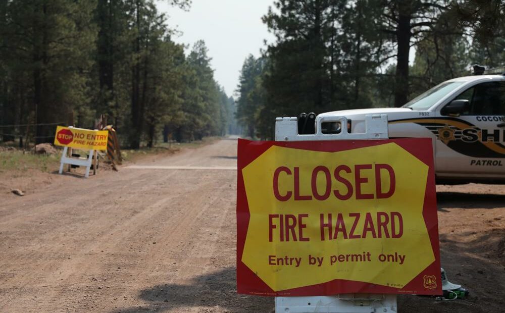
{"type": "Polygon", "coordinates": [[[239,293],[441,294],[430,139],[240,139],[238,170],[239,293]]]}

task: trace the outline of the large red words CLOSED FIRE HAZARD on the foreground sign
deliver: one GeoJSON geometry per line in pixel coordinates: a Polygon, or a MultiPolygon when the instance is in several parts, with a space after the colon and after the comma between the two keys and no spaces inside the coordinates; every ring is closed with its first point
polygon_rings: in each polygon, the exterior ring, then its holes
{"type": "MultiPolygon", "coordinates": [[[[278,201],[324,201],[332,195],[339,201],[350,198],[384,199],[391,197],[395,191],[395,174],[388,164],[359,164],[354,168],[345,165],[336,166],[330,171],[325,166],[317,166],[310,177],[300,177],[298,167],[278,167],[273,174],[273,194],[278,201]],[[354,173],[352,179],[345,178],[341,173],[354,173]],[[333,174],[332,174],[333,173],[333,174]],[[292,177],[291,186],[279,186],[279,176],[292,177]],[[387,178],[383,183],[382,178],[387,178]],[[300,180],[310,180],[311,193],[301,194],[300,180]],[[323,180],[321,190],[318,179],[323,180]],[[364,192],[363,188],[374,192],[364,192]],[[371,187],[371,188],[370,188],[371,187]],[[281,191],[282,190],[282,191],[281,191]]],[[[304,214],[269,214],[268,239],[273,241],[310,241],[305,232],[307,223],[311,220],[310,212],[304,214]]],[[[317,214],[320,228],[320,239],[362,239],[362,238],[400,238],[403,234],[403,218],[399,212],[351,212],[340,213],[338,207],[331,213],[317,214]]],[[[314,224],[314,223],[312,223],[314,224]]]]}

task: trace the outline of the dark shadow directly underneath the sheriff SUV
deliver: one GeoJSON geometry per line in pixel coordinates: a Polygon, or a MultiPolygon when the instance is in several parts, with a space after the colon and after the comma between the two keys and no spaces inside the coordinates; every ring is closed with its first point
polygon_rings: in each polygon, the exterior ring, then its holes
{"type": "Polygon", "coordinates": [[[464,192],[437,192],[439,211],[444,208],[496,208],[505,207],[505,195],[472,194],[464,192]]]}

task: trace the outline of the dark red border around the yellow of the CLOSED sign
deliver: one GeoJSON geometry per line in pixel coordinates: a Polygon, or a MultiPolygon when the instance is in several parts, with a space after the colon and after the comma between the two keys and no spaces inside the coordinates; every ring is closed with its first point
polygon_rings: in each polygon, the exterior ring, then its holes
{"type": "Polygon", "coordinates": [[[339,293],[386,293],[386,294],[422,294],[441,295],[441,282],[435,289],[424,287],[424,276],[440,277],[440,246],[438,241],[438,216],[435,191],[435,171],[431,138],[396,138],[382,140],[324,140],[324,141],[250,141],[238,139],[237,158],[237,292],[261,296],[317,296],[339,293]],[[395,143],[414,155],[429,168],[423,205],[423,218],[428,230],[434,262],[401,289],[335,279],[322,284],[304,286],[294,289],[274,291],[260,277],[242,263],[247,228],[249,225],[249,207],[245,193],[242,169],[256,160],[271,146],[289,147],[310,151],[338,152],[363,147],[395,143]],[[243,227],[239,227],[242,224],[243,227]]]}

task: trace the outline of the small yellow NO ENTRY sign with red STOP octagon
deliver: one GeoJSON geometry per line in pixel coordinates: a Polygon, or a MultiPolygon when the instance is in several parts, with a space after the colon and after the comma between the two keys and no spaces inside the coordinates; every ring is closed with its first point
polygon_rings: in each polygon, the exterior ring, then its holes
{"type": "Polygon", "coordinates": [[[83,150],[107,150],[107,130],[90,130],[58,126],[55,145],[83,150]]]}

